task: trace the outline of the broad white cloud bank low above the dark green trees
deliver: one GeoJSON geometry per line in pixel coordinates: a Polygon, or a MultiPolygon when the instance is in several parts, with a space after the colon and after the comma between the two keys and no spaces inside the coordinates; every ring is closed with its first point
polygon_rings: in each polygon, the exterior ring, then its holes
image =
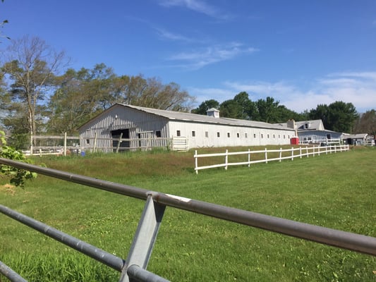
{"type": "MultiPolygon", "coordinates": [[[[302,83],[302,82],[301,82],[302,83]]],[[[305,83],[305,82],[303,82],[305,83]]],[[[336,101],[352,103],[359,112],[376,109],[376,72],[332,73],[318,78],[308,87],[299,87],[293,82],[224,82],[222,87],[192,88],[190,94],[200,104],[206,99],[223,102],[233,99],[239,92],[248,92],[250,99],[274,97],[279,104],[293,111],[315,109],[317,104],[331,104],[336,101]]]]}

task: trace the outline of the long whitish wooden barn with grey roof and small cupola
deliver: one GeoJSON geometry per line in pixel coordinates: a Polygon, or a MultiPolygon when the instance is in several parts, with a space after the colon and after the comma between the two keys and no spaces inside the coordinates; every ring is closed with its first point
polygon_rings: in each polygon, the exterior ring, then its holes
{"type": "Polygon", "coordinates": [[[129,139],[121,142],[124,149],[144,147],[146,140],[161,140],[159,145],[164,146],[162,140],[174,138],[187,140],[186,149],[289,145],[295,135],[295,130],[286,125],[221,118],[217,109],[208,110],[204,116],[128,104],[114,104],[78,130],[83,147],[92,147],[94,137],[97,147],[116,147],[114,138],[121,136],[129,139]]]}

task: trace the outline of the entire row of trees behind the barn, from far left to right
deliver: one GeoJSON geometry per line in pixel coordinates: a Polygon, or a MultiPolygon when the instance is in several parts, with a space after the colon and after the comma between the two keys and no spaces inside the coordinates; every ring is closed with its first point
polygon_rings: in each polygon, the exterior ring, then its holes
{"type": "MultiPolygon", "coordinates": [[[[188,112],[195,102],[195,97],[174,82],[164,84],[143,75],[116,75],[104,63],[79,70],[68,68],[65,54],[39,37],[14,40],[4,54],[0,126],[11,136],[8,144],[13,147],[28,147],[31,135],[75,135],[80,125],[115,103],[188,112]]],[[[267,123],[322,119],[328,130],[373,135],[376,130],[375,110],[359,116],[353,104],[344,102],[320,104],[299,114],[272,97],[251,101],[247,92],[240,92],[222,103],[214,99],[202,102],[191,112],[206,115],[210,108],[219,109],[227,118],[267,123]]]]}

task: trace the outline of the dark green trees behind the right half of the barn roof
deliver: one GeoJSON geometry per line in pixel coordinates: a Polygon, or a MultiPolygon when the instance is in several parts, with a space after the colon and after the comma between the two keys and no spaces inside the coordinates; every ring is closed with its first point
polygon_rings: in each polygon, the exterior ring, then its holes
{"type": "Polygon", "coordinates": [[[294,121],[321,119],[327,130],[339,133],[369,133],[372,135],[376,133],[375,110],[359,116],[352,103],[341,101],[329,105],[319,104],[315,109],[299,114],[280,105],[279,101],[274,100],[273,97],[251,101],[247,92],[240,92],[234,99],[222,103],[214,99],[206,100],[192,112],[205,115],[210,108],[219,109],[220,115],[224,118],[265,121],[267,123],[286,123],[291,119],[294,121]]]}

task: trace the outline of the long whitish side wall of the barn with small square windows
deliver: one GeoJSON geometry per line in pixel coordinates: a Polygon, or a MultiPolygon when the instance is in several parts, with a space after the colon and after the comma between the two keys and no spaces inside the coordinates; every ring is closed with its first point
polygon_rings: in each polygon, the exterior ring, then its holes
{"type": "Polygon", "coordinates": [[[178,136],[179,130],[181,137],[188,137],[190,148],[289,145],[290,138],[295,134],[294,130],[248,128],[209,123],[170,121],[169,124],[170,135],[178,136]]]}

